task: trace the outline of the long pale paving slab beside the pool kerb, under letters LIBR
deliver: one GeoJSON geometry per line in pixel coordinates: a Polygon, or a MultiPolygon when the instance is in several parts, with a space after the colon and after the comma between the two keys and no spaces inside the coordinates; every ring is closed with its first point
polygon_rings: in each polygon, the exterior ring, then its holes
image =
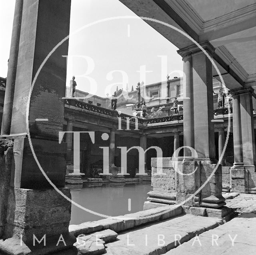
{"type": "MultiPolygon", "coordinates": [[[[191,214],[178,216],[156,224],[144,225],[118,234],[118,241],[108,243],[109,255],[164,254],[194,236],[223,224],[218,218],[191,214]]],[[[185,253],[184,253],[185,254],[185,253]]],[[[189,253],[188,253],[189,254],[189,253]]]]}

